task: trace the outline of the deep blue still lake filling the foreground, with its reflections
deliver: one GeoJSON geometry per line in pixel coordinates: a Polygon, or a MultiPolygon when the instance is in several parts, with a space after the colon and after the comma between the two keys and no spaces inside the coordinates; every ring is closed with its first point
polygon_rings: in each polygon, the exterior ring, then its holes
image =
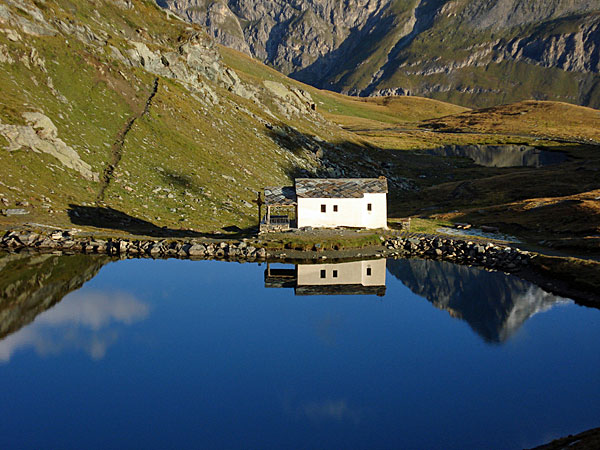
{"type": "Polygon", "coordinates": [[[2,449],[518,449],[600,425],[600,311],[501,273],[10,258],[2,449]]]}

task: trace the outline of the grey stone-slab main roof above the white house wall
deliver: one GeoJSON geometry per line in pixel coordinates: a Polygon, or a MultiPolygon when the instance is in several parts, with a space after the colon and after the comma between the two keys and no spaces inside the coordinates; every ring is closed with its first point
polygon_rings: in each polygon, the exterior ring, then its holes
{"type": "Polygon", "coordinates": [[[387,179],[380,178],[297,178],[299,198],[361,198],[364,194],[387,194],[387,179]]]}

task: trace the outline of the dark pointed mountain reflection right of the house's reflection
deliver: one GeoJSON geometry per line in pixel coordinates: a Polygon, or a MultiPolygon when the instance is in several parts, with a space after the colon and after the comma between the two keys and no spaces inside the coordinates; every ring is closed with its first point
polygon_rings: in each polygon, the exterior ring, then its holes
{"type": "Polygon", "coordinates": [[[443,261],[388,260],[388,271],[415,294],[465,320],[488,342],[503,342],[534,314],[565,301],[501,272],[443,261]]]}

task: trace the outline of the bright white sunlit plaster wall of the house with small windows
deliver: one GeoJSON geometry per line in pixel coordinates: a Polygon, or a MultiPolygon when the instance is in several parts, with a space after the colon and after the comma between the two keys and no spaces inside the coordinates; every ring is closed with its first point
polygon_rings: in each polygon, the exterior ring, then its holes
{"type": "Polygon", "coordinates": [[[334,228],[338,226],[357,228],[387,227],[387,195],[365,194],[362,198],[299,198],[298,227],[334,228]],[[367,204],[372,211],[367,211],[367,204]],[[327,211],[321,212],[321,205],[327,211]],[[334,212],[334,205],[338,211],[334,212]]]}

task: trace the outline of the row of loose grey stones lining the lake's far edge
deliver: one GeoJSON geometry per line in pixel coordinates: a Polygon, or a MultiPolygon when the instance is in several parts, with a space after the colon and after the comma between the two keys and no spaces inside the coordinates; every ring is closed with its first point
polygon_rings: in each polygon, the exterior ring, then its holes
{"type": "MultiPolygon", "coordinates": [[[[261,244],[267,244],[264,240],[261,244]]],[[[335,259],[336,252],[295,252],[294,256],[278,249],[267,250],[248,240],[207,242],[200,239],[99,239],[77,236],[72,231],[36,233],[8,231],[0,239],[0,248],[17,251],[61,251],[66,253],[106,254],[121,257],[150,258],[219,258],[233,260],[323,260],[335,259]]],[[[350,255],[352,257],[352,255],[350,255]]],[[[504,272],[516,272],[530,264],[535,255],[491,242],[474,242],[432,236],[389,238],[382,245],[365,252],[356,249],[355,257],[421,257],[441,259],[504,272]],[[360,253],[359,253],[360,252],[360,253]]],[[[348,258],[348,255],[345,256],[348,258]]]]}

